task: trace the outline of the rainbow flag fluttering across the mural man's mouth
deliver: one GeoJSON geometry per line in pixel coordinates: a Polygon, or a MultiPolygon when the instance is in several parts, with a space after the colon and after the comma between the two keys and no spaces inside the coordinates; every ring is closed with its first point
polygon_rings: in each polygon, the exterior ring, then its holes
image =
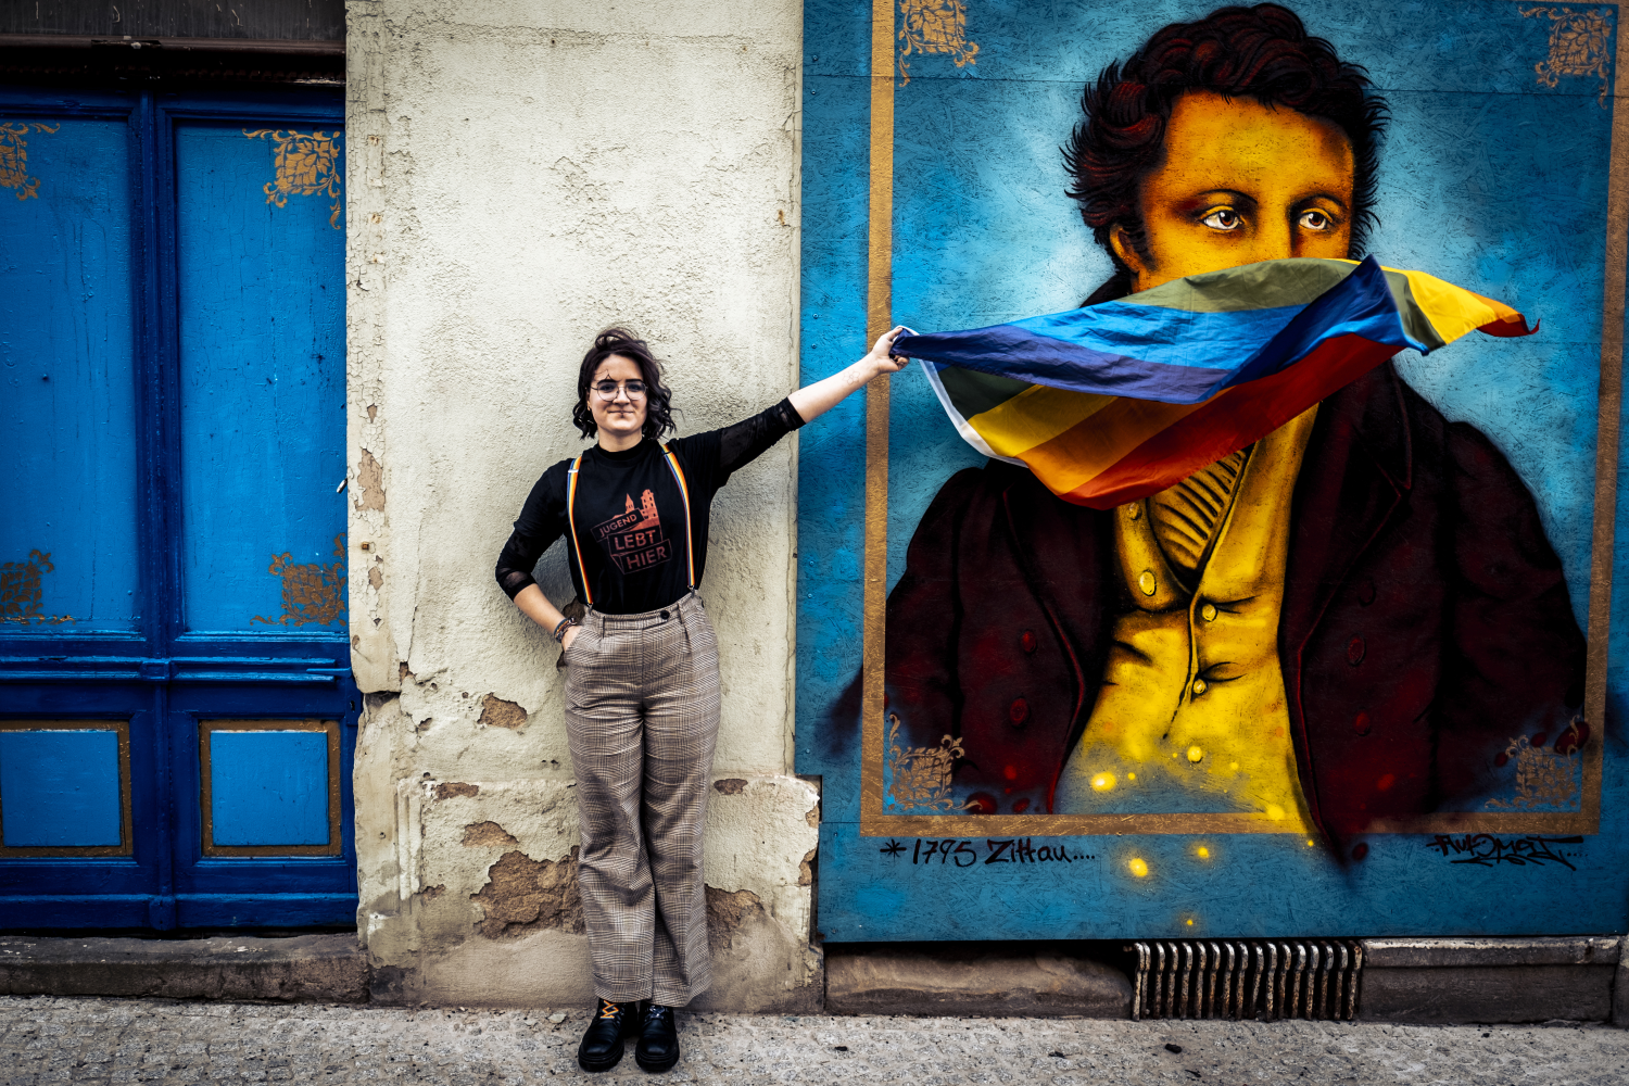
{"type": "Polygon", "coordinates": [[[1526,319],[1422,272],[1290,259],[1173,280],[1085,309],[901,335],[956,430],[1052,493],[1109,510],[1282,427],[1406,347],[1526,319]]]}

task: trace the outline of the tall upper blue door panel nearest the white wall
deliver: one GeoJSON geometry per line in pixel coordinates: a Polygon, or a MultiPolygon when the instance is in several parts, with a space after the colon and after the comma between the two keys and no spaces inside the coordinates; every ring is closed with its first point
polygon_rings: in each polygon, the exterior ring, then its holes
{"type": "Polygon", "coordinates": [[[339,132],[178,122],[184,628],[344,630],[339,132]]]}

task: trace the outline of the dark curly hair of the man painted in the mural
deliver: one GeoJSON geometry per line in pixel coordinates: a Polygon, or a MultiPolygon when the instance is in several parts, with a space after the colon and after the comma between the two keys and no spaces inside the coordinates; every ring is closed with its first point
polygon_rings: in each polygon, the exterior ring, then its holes
{"type": "Polygon", "coordinates": [[[1264,106],[1331,120],[1352,142],[1352,244],[1363,254],[1377,223],[1375,171],[1390,111],[1373,91],[1367,68],[1346,63],[1334,46],[1313,37],[1293,11],[1276,3],[1217,8],[1196,23],[1171,23],[1126,60],[1103,68],[1096,86],[1080,96],[1085,119],[1062,148],[1074,182],[1069,195],[1098,244],[1114,261],[1114,278],[1090,301],[1131,291],[1131,269],[1109,246],[1119,225],[1137,252],[1145,252],[1137,189],[1165,151],[1165,125],[1186,91],[1254,98],[1264,106]]]}

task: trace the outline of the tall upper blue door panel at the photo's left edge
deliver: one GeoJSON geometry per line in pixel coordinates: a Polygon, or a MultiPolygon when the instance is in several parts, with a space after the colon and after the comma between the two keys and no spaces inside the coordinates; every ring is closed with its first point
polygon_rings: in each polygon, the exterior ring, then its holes
{"type": "Polygon", "coordinates": [[[0,624],[134,633],[130,125],[0,117],[0,624]]]}

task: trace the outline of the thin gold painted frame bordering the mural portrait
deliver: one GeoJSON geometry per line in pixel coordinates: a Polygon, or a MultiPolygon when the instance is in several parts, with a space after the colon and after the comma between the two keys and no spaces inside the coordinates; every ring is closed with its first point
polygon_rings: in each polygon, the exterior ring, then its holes
{"type": "MultiPolygon", "coordinates": [[[[1622,13],[1619,0],[1611,7],[1622,13]]],[[[1622,407],[1624,257],[1629,247],[1629,34],[1614,28],[1613,120],[1606,181],[1606,261],[1601,300],[1601,378],[1596,409],[1595,524],[1590,544],[1590,614],[1583,718],[1583,799],[1574,812],[1460,812],[1377,824],[1381,834],[1596,834],[1606,718],[1606,640],[1611,628],[1613,544],[1618,510],[1618,420],[1622,407]]],[[[894,0],[872,0],[870,228],[865,342],[893,327],[894,208],[894,0]]],[[[883,684],[888,607],[888,376],[865,389],[865,567],[862,655],[862,837],[1072,837],[1090,834],[1284,834],[1251,814],[885,814],[883,684]]]]}

